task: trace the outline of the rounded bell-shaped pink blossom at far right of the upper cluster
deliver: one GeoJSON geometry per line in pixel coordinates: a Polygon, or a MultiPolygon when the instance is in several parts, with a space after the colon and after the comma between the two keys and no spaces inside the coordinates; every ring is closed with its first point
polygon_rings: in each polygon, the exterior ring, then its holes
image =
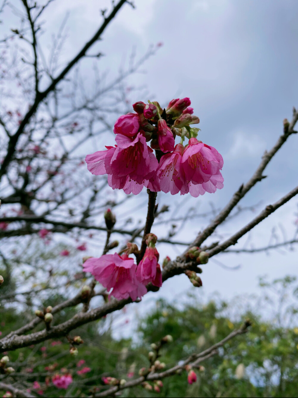
{"type": "MultiPolygon", "coordinates": [[[[211,176],[221,176],[220,170],[223,167],[223,158],[212,146],[203,144],[203,142],[198,141],[196,138],[191,138],[184,150],[181,167],[187,183],[191,182],[194,185],[203,184],[207,183],[211,179],[211,176]]],[[[215,181],[215,179],[213,178],[212,185],[216,186],[217,182],[223,182],[217,181],[217,179],[215,181]]],[[[205,189],[205,187],[203,188],[205,189]]],[[[181,193],[187,193],[188,190],[184,189],[181,193]]]]}

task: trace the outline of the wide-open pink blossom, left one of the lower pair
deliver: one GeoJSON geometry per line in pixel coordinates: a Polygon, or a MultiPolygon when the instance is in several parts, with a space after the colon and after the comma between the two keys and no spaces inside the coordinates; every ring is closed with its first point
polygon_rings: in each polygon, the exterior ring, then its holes
{"type": "Polygon", "coordinates": [[[110,295],[118,300],[131,297],[133,301],[147,293],[144,285],[135,278],[136,264],[127,254],[104,254],[100,258],[89,258],[83,264],[85,272],[90,272],[110,295]]]}

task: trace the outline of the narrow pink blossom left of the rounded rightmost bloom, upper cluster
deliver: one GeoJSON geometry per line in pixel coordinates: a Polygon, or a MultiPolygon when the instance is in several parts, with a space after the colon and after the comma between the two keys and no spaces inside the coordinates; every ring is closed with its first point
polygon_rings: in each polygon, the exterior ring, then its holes
{"type": "Polygon", "coordinates": [[[184,172],[181,167],[184,146],[177,144],[174,152],[167,153],[161,157],[157,178],[161,190],[165,193],[170,192],[175,195],[180,191],[182,185],[186,184],[184,172]]]}

